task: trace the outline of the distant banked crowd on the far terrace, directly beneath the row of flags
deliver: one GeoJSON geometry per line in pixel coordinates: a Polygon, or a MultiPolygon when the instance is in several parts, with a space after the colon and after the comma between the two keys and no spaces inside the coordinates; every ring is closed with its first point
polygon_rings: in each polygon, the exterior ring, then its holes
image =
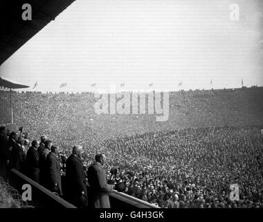
{"type": "MultiPolygon", "coordinates": [[[[98,145],[114,137],[163,132],[180,128],[263,125],[263,87],[193,90],[170,93],[169,119],[156,122],[154,114],[94,112],[92,93],[50,94],[12,92],[14,124],[31,138],[46,135],[63,147],[98,145]],[[66,143],[64,143],[66,141],[66,143]]],[[[10,93],[0,90],[0,123],[10,123],[10,93]]],[[[146,106],[147,108],[147,106],[146,106]]]]}

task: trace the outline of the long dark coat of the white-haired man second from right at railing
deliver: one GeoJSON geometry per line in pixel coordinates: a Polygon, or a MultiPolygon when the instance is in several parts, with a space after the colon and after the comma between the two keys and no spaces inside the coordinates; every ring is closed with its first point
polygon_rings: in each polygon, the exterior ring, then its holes
{"type": "Polygon", "coordinates": [[[66,199],[76,207],[87,205],[87,185],[81,160],[71,154],[66,160],[66,199]],[[82,195],[84,191],[84,195],[82,195]]]}

